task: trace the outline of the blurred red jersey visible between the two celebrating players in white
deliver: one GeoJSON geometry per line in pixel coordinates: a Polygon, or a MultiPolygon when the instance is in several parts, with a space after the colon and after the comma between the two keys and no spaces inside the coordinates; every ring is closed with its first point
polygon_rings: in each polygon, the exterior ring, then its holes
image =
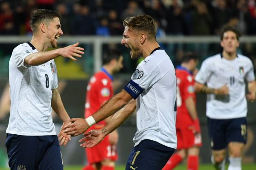
{"type": "MultiPolygon", "coordinates": [[[[88,117],[92,115],[112,96],[112,76],[102,69],[102,71],[94,74],[88,82],[84,105],[84,116],[88,117]]],[[[105,121],[101,121],[96,125],[105,125],[105,121]]]]}

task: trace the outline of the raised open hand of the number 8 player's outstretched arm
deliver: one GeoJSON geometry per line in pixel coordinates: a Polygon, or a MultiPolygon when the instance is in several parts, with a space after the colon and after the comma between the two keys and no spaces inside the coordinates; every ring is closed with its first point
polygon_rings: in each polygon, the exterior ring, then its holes
{"type": "Polygon", "coordinates": [[[84,48],[78,47],[79,43],[76,42],[76,44],[69,45],[64,48],[58,49],[58,54],[65,58],[70,58],[74,61],[76,59],[74,57],[82,57],[80,54],[84,54],[84,48]]]}

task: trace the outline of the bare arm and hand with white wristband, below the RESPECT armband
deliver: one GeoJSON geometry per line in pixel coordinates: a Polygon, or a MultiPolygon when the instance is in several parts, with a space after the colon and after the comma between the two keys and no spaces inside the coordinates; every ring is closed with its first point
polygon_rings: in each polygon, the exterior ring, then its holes
{"type": "MultiPolygon", "coordinates": [[[[131,99],[131,95],[128,94],[125,90],[122,90],[111,99],[109,99],[104,105],[102,105],[102,107],[93,113],[91,117],[89,116],[91,118],[90,122],[92,122],[91,125],[113,115],[122,107],[124,107],[131,99]]],[[[87,121],[81,118],[70,119],[70,122],[73,123],[64,127],[66,129],[65,132],[72,136],[77,136],[81,133],[84,133],[90,127],[87,121]]]]}

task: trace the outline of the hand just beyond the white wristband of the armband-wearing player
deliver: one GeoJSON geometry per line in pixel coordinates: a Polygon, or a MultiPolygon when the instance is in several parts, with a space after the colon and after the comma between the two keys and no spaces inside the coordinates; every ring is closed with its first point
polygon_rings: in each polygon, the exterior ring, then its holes
{"type": "Polygon", "coordinates": [[[64,127],[64,132],[67,133],[67,135],[78,136],[90,127],[85,119],[73,118],[69,119],[69,121],[73,123],[64,127]]]}

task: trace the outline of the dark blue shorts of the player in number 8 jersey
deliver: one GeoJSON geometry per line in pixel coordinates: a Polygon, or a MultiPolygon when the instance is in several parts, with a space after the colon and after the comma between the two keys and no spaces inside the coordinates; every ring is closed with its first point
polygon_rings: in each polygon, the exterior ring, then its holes
{"type": "Polygon", "coordinates": [[[20,136],[7,133],[6,148],[11,170],[63,170],[56,135],[20,136]]]}

